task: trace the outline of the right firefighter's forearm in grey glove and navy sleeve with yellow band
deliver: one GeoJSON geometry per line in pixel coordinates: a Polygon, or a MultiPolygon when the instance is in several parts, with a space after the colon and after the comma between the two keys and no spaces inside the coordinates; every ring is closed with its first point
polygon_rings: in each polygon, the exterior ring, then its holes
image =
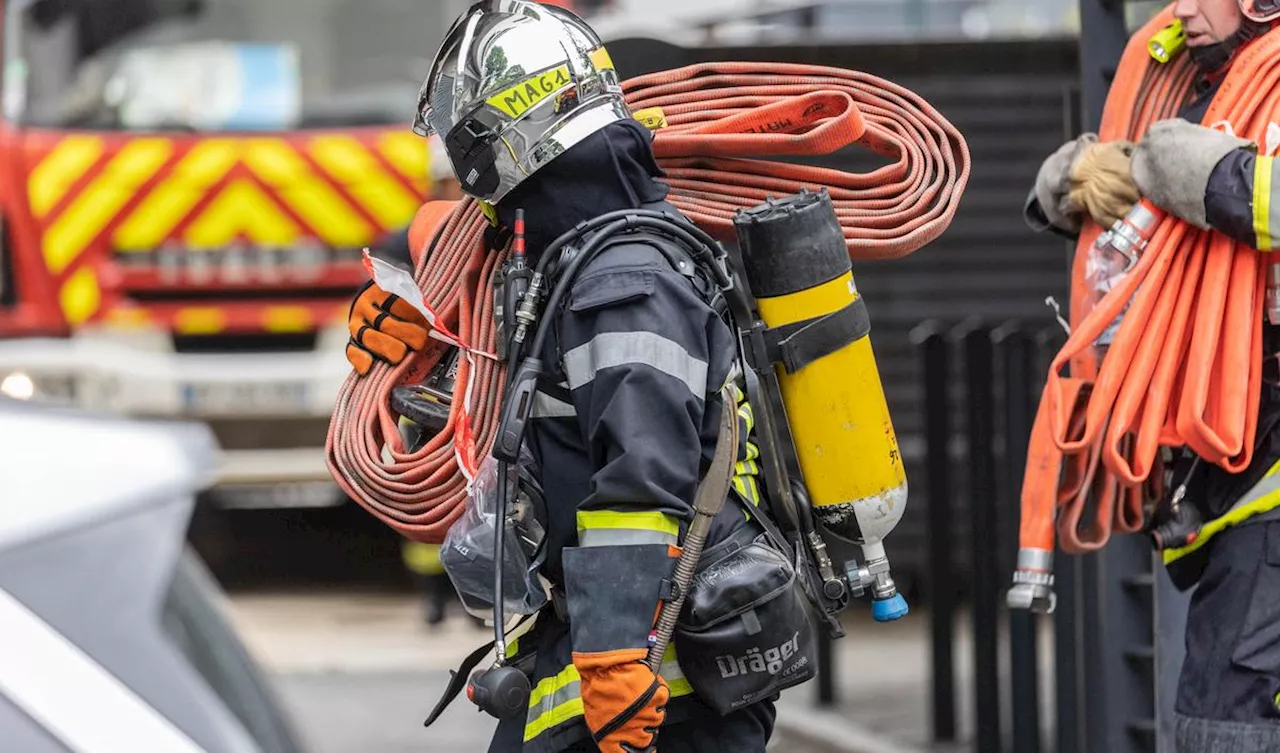
{"type": "Polygon", "coordinates": [[[1153,123],[1133,155],[1134,181],[1156,206],[1263,250],[1271,166],[1253,142],[1180,119],[1153,123]]]}

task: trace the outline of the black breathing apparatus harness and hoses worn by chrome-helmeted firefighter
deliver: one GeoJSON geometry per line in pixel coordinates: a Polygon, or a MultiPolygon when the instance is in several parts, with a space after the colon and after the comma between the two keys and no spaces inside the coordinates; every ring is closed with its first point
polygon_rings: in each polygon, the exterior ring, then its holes
{"type": "MultiPolygon", "coordinates": [[[[804,192],[801,198],[812,200],[813,195],[804,192]]],[[[826,200],[826,191],[822,198],[826,200]]],[[[532,476],[525,473],[527,455],[522,455],[522,447],[535,393],[547,370],[539,357],[554,320],[547,312],[559,309],[577,274],[593,259],[628,236],[635,236],[639,242],[658,250],[681,274],[694,279],[700,278],[701,284],[695,287],[700,288],[704,297],[709,298],[712,309],[735,332],[739,341],[736,361],[755,416],[756,441],[769,492],[765,496],[769,508],[760,514],[760,510],[751,507],[739,494],[733,496],[740,498],[749,515],[764,529],[768,544],[786,558],[788,566],[794,566],[804,599],[823,616],[827,634],[831,638],[842,636],[844,629],[836,615],[847,606],[850,584],[836,574],[827,546],[817,530],[813,512],[808,506],[808,492],[801,480],[800,464],[786,424],[774,364],[788,364],[799,369],[838,350],[860,336],[856,323],[850,329],[849,314],[844,312],[840,316],[819,318],[799,325],[767,328],[758,315],[737,250],[726,250],[708,233],[680,215],[650,209],[623,209],[603,214],[579,223],[556,238],[543,251],[536,268],[530,269],[524,248],[524,213],[516,213],[512,255],[502,271],[502,286],[495,292],[502,309],[497,339],[500,351],[511,364],[515,364],[502,400],[492,452],[498,461],[497,520],[506,520],[504,508],[511,492],[504,479],[509,478],[509,467],[520,469],[517,478],[521,487],[536,484],[532,476]]],[[[727,401],[723,392],[722,398],[726,400],[723,410],[732,414],[732,402],[727,401]]],[[[736,421],[736,416],[733,420],[736,421]]],[[[520,489],[517,493],[525,490],[520,489]]],[[[536,489],[534,494],[540,499],[536,489]]],[[[664,608],[668,602],[684,601],[690,592],[690,583],[680,580],[682,571],[686,574],[686,580],[691,580],[701,549],[701,542],[696,547],[690,546],[692,530],[691,526],[684,552],[692,555],[695,561],[685,567],[677,566],[672,597],[664,602],[664,608]]],[[[504,538],[504,535],[494,538],[495,563],[503,561],[504,538]]],[[[507,657],[507,619],[502,598],[503,570],[502,566],[494,567],[492,598],[494,640],[476,649],[458,670],[451,672],[451,683],[428,717],[425,722],[428,726],[453,700],[467,674],[484,660],[490,648],[494,651],[494,662],[489,668],[477,671],[466,680],[467,697],[483,711],[498,718],[516,716],[527,704],[529,679],[518,666],[520,660],[512,661],[507,657]]],[[[854,590],[860,592],[861,587],[854,584],[854,590]]],[[[799,604],[794,604],[792,608],[799,608],[799,604]]],[[[521,620],[513,630],[524,624],[525,620],[521,620]]],[[[662,649],[671,640],[675,616],[659,621],[658,645],[650,647],[650,660],[660,660],[662,649]]],[[[657,661],[650,663],[657,666],[657,661]]],[[[805,675],[803,677],[797,675],[791,684],[808,679],[812,671],[812,667],[805,667],[805,675]]]]}

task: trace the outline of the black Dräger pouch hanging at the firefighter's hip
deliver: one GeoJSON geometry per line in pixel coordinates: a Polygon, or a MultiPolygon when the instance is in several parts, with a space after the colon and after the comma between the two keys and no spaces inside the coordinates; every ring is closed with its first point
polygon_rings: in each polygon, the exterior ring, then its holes
{"type": "Polygon", "coordinates": [[[698,697],[721,715],[815,674],[813,622],[792,562],[748,524],[703,552],[673,642],[698,697]]]}

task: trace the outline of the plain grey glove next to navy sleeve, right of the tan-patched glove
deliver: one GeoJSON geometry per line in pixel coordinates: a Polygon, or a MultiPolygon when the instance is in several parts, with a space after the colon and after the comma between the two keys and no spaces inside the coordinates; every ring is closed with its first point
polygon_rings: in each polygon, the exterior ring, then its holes
{"type": "Polygon", "coordinates": [[[1160,120],[1133,151],[1133,181],[1152,204],[1207,231],[1208,178],[1222,158],[1242,147],[1258,145],[1178,118],[1160,120]]]}

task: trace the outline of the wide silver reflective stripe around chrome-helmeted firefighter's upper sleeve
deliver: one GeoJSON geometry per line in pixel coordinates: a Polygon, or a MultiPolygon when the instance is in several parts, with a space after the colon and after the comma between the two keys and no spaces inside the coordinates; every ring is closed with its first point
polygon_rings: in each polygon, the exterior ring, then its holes
{"type": "Polygon", "coordinates": [[[707,361],[653,332],[604,332],[564,353],[571,389],[590,384],[596,371],[625,364],[644,364],[685,383],[695,397],[707,394],[707,361]]]}

